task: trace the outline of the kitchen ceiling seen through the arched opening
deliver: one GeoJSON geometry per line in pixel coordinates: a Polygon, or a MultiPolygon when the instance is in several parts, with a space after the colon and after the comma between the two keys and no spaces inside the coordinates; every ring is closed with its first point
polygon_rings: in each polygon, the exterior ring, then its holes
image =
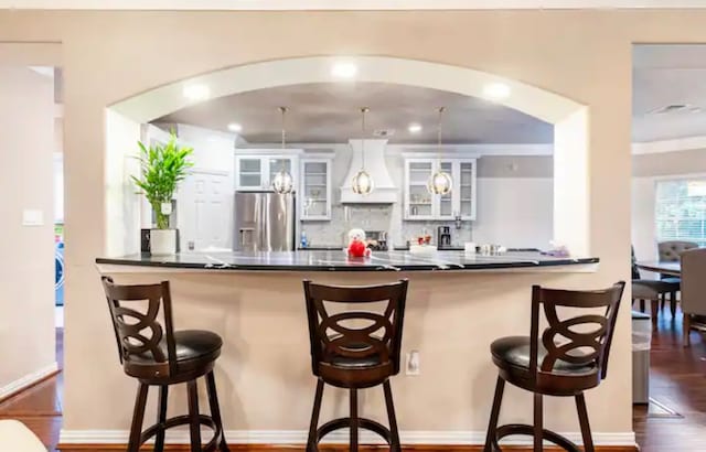
{"type": "Polygon", "coordinates": [[[361,107],[368,134],[393,131],[392,143],[436,143],[438,109],[446,107],[445,143],[550,143],[553,127],[536,118],[483,99],[429,88],[382,83],[323,83],[259,89],[186,107],[154,122],[182,122],[227,131],[242,125],[250,143],[281,139],[281,114],[289,108],[287,141],[336,143],[361,136],[361,107]],[[421,125],[418,133],[410,123],[421,125]]]}

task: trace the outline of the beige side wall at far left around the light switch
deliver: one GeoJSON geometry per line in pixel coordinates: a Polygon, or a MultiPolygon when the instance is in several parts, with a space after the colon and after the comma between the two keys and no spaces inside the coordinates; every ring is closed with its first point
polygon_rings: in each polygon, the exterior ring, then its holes
{"type": "Polygon", "coordinates": [[[55,363],[53,137],[52,79],[0,65],[0,396],[55,363]]]}

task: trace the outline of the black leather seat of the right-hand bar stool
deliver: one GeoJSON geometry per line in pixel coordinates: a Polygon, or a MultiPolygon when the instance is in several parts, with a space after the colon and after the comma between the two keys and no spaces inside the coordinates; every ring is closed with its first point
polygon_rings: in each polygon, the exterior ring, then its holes
{"type": "MultiPolygon", "coordinates": [[[[530,370],[530,337],[509,336],[493,342],[490,346],[493,360],[501,367],[512,368],[512,370],[530,370]]],[[[544,357],[547,355],[546,348],[539,342],[537,349],[537,367],[542,366],[544,357]]],[[[552,370],[557,375],[587,375],[596,372],[596,366],[577,365],[557,359],[552,370]]]]}

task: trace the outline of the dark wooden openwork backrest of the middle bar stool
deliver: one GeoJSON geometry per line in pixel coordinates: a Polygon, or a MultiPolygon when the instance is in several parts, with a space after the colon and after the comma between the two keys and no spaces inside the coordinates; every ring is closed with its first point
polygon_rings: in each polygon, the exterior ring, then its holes
{"type": "Polygon", "coordinates": [[[332,364],[336,356],[363,359],[376,356],[389,363],[393,375],[399,373],[402,331],[407,300],[407,280],[382,286],[338,287],[304,281],[311,365],[319,376],[319,365],[332,364]],[[345,311],[330,314],[324,303],[365,304],[386,302],[384,312],[345,311]],[[364,326],[351,324],[360,321],[364,326]],[[330,333],[331,332],[331,333],[330,333]]]}

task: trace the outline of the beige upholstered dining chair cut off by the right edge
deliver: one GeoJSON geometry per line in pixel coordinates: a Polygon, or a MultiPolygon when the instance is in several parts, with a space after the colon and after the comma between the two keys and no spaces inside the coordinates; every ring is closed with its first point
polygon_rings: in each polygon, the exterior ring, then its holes
{"type": "Polygon", "coordinates": [[[682,312],[684,346],[692,345],[692,330],[706,331],[706,248],[682,252],[682,312]]]}

